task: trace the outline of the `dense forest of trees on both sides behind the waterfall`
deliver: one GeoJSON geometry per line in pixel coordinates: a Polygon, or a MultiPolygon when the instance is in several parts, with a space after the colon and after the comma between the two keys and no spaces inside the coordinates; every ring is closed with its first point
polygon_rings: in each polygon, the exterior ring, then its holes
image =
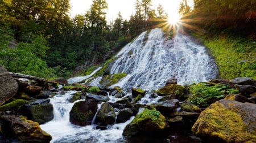
{"type": "MultiPolygon", "coordinates": [[[[71,18],[69,0],[1,0],[0,64],[10,72],[44,78],[68,77],[79,67],[104,62],[141,32],[167,21],[163,7],[159,4],[154,10],[151,0],[137,0],[130,19],[123,19],[119,12],[110,22],[106,20],[108,3],[92,1],[85,15],[71,18]]],[[[254,77],[256,73],[251,71],[256,70],[256,1],[194,0],[193,3],[193,6],[187,0],[180,3],[183,28],[202,38],[209,47],[223,40],[232,44],[236,41],[232,51],[254,58],[238,64],[248,73],[235,71],[234,75],[254,77]]],[[[217,57],[220,54],[216,51],[221,48],[225,49],[225,45],[212,48],[211,54],[217,57]]],[[[216,58],[218,66],[224,64],[221,66],[224,68],[226,60],[230,59],[216,58]]]]}

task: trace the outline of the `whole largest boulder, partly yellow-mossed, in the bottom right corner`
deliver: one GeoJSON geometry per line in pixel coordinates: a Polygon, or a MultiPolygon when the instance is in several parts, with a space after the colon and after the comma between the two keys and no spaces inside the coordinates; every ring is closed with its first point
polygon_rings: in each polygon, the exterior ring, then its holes
{"type": "Polygon", "coordinates": [[[221,99],[201,112],[192,132],[205,142],[255,142],[256,105],[221,99]]]}

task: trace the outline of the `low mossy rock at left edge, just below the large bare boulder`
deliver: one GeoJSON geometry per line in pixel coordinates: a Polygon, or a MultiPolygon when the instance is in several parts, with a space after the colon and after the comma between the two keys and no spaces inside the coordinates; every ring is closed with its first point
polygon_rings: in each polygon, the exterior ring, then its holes
{"type": "Polygon", "coordinates": [[[24,99],[16,99],[13,102],[7,103],[5,105],[0,106],[0,111],[17,111],[20,106],[24,105],[27,101],[24,99]]]}

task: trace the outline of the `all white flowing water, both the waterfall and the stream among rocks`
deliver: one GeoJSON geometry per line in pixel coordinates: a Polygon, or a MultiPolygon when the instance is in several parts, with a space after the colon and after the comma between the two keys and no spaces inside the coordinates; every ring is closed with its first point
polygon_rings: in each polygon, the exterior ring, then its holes
{"type": "MultiPolygon", "coordinates": [[[[160,28],[143,32],[133,42],[123,47],[117,54],[119,57],[111,67],[111,73],[125,72],[128,75],[113,86],[123,89],[142,88],[155,90],[165,84],[167,79],[175,76],[178,84],[206,81],[216,77],[217,68],[214,61],[205,53],[205,47],[195,44],[190,37],[177,33],[168,40],[160,28]]],[[[100,69],[97,69],[100,70],[100,69]]],[[[95,72],[97,72],[97,70],[95,72]]],[[[93,72],[94,73],[94,72],[93,72]]],[[[86,78],[92,76],[86,76],[86,78]]],[[[69,83],[86,79],[75,77],[69,83]]],[[[105,130],[96,129],[96,125],[80,127],[69,122],[69,111],[74,103],[68,102],[73,92],[57,94],[51,98],[54,108],[54,119],[40,125],[52,135],[51,142],[126,142],[122,136],[125,123],[110,125],[105,130]]],[[[141,103],[156,102],[144,96],[141,103]]],[[[116,99],[110,97],[110,102],[116,99]]]]}

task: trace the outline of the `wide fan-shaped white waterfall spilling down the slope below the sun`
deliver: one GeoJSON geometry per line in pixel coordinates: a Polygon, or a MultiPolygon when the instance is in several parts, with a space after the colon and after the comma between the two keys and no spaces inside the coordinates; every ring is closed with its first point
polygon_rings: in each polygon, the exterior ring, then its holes
{"type": "Polygon", "coordinates": [[[155,90],[171,77],[181,85],[216,77],[216,64],[204,46],[179,32],[171,40],[168,38],[156,28],[149,33],[143,32],[123,47],[110,73],[125,72],[128,75],[113,86],[155,90]]]}

